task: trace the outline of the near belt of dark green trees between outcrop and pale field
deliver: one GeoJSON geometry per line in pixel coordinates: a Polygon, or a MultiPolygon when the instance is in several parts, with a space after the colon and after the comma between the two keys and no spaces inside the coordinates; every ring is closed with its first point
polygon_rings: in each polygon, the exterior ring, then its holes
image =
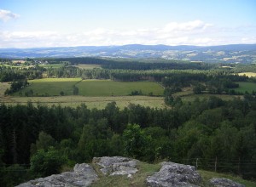
{"type": "Polygon", "coordinates": [[[94,156],[185,159],[187,164],[200,158],[202,169],[212,169],[207,161],[218,158],[225,166],[219,172],[255,178],[255,116],[255,96],[177,100],[172,109],[129,105],[120,110],[114,102],[102,110],[84,104],[77,108],[2,104],[1,184],[10,183],[6,180],[13,167],[27,169],[29,174],[20,178],[43,177],[59,172],[63,164],[73,166],[94,156]],[[52,155],[56,160],[50,160],[52,155]]]}

